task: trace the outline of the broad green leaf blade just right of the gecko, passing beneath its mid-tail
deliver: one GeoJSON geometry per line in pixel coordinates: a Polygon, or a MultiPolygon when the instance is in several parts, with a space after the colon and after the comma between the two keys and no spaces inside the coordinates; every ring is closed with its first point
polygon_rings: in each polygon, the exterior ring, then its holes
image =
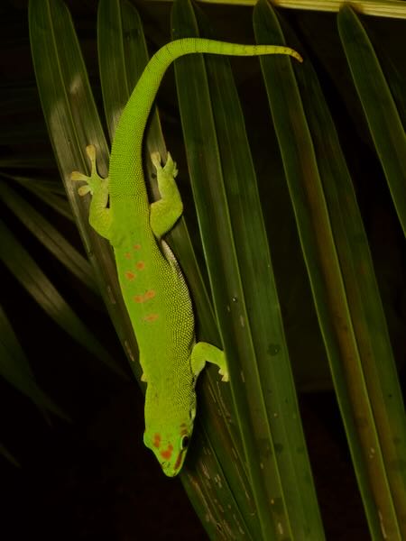
{"type": "MultiPolygon", "coordinates": [[[[188,2],[174,4],[171,26],[173,38],[198,35],[188,2]]],[[[277,538],[283,532],[300,539],[311,532],[322,539],[244,118],[227,60],[203,58],[177,60],[175,73],[190,180],[245,451],[235,458],[239,469],[246,468],[259,524],[250,517],[251,506],[238,490],[240,478],[227,454],[221,448],[217,454],[254,538],[277,538]]]]}

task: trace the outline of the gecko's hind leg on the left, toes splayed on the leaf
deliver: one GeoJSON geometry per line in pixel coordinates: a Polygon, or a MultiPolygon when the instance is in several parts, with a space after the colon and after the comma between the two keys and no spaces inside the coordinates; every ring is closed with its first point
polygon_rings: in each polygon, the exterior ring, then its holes
{"type": "Polygon", "coordinates": [[[90,193],[92,196],[88,222],[98,234],[110,239],[111,214],[110,209],[107,208],[108,178],[102,179],[97,173],[96,148],[93,144],[86,147],[86,153],[91,164],[90,176],[88,177],[79,171],[73,171],[70,174],[70,179],[86,182],[84,186],[78,188],[78,194],[79,196],[86,196],[86,194],[90,193]]]}

